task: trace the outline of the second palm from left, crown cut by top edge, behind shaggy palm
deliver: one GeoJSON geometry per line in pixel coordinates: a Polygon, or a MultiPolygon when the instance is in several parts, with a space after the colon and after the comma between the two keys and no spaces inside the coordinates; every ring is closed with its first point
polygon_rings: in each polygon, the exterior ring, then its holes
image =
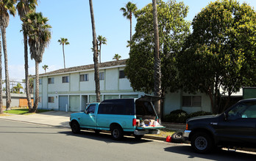
{"type": "MultiPolygon", "coordinates": [[[[35,6],[38,5],[38,0],[19,0],[16,8],[18,10],[18,15],[22,18],[26,17],[26,14],[35,12],[35,6]]],[[[24,37],[24,68],[25,68],[25,89],[26,89],[26,99],[28,102],[29,111],[32,111],[32,100],[31,92],[29,90],[29,59],[28,59],[28,50],[27,50],[27,34],[23,32],[24,37]]]]}

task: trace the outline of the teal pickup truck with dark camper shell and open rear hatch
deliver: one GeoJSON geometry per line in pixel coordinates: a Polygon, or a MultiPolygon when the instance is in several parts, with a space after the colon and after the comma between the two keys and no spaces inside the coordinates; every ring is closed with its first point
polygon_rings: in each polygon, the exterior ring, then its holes
{"type": "Polygon", "coordinates": [[[85,112],[71,113],[70,126],[74,133],[80,130],[111,131],[114,140],[124,134],[142,138],[145,134],[157,134],[161,126],[152,102],[157,97],[144,96],[138,99],[115,99],[91,103],[85,112]]]}

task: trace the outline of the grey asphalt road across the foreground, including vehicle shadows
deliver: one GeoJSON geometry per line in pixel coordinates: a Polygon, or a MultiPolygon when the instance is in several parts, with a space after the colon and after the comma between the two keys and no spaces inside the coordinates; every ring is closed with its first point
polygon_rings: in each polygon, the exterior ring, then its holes
{"type": "Polygon", "coordinates": [[[133,137],[113,141],[108,134],[0,119],[0,160],[256,160],[256,154],[218,151],[196,154],[187,144],[133,137]]]}

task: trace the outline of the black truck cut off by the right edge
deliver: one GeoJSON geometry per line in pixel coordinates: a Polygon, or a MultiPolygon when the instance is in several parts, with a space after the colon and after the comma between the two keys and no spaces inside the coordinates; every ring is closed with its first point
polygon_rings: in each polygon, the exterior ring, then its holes
{"type": "Polygon", "coordinates": [[[199,153],[217,147],[256,148],[256,99],[241,100],[217,116],[188,119],[183,137],[199,153]]]}

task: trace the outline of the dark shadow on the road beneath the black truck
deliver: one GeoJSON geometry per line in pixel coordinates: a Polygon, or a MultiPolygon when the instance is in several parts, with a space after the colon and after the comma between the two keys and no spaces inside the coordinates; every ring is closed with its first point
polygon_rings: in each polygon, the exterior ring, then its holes
{"type": "Polygon", "coordinates": [[[250,153],[247,151],[227,151],[227,150],[216,150],[211,151],[209,154],[198,154],[191,146],[171,146],[165,151],[169,151],[172,153],[184,154],[188,156],[189,159],[207,159],[207,160],[256,160],[256,154],[250,153]]]}

